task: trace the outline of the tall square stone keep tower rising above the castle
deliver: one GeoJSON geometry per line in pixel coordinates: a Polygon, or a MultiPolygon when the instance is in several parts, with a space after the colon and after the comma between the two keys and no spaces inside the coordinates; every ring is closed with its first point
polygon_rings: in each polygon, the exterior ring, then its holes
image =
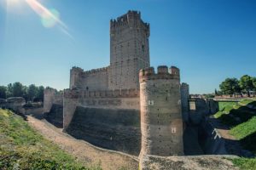
{"type": "Polygon", "coordinates": [[[149,24],[137,11],[110,20],[108,88],[139,88],[138,73],[149,67],[149,24]]]}

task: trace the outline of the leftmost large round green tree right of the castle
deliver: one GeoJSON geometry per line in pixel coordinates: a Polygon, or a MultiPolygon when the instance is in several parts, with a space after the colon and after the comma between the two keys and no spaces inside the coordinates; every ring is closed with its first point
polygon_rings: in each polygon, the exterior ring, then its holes
{"type": "Polygon", "coordinates": [[[219,88],[223,94],[229,94],[230,96],[241,91],[239,81],[236,78],[226,78],[224,82],[221,82],[219,88]]]}

